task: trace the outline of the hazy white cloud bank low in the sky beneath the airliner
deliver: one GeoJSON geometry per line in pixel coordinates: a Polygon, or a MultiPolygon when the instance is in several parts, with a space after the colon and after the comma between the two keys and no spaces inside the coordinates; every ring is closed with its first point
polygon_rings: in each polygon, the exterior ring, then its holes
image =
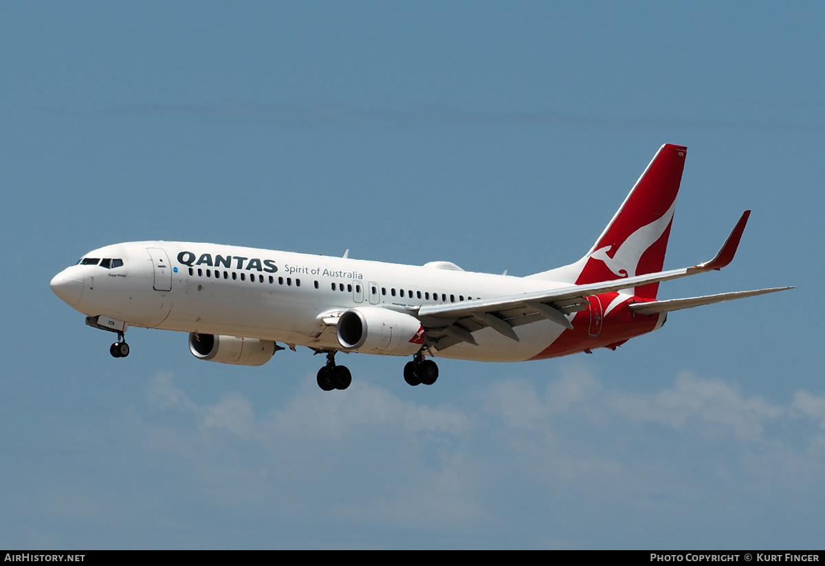
{"type": "Polygon", "coordinates": [[[165,508],[196,501],[212,516],[248,516],[252,531],[288,524],[299,546],[347,545],[356,532],[367,546],[591,545],[584,526],[605,545],[634,530],[678,545],[675,529],[704,516],[746,545],[761,508],[794,499],[810,515],[823,499],[825,399],[814,394],[771,403],[690,372],[635,393],[581,366],[463,391],[433,403],[370,380],[324,393],[308,379],[266,408],[238,392],[196,402],[158,375],[149,410],[122,426],[143,436],[143,461],[181,478],[170,496],[181,501],[165,508]]]}

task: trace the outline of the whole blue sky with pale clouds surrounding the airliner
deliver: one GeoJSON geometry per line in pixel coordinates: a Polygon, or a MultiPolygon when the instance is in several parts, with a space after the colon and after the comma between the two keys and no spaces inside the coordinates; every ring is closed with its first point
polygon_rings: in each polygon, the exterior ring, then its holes
{"type": "Polygon", "coordinates": [[[821,548],[818,2],[4,2],[0,545],[821,548]],[[52,295],[84,252],[192,240],[527,275],[689,148],[674,313],[553,361],[128,359],[52,295]]]}

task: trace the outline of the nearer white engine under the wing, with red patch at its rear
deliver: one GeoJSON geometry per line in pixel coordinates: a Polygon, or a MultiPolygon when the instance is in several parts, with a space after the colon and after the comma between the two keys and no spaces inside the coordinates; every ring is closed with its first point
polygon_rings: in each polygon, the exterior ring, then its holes
{"type": "Polygon", "coordinates": [[[349,309],[338,318],[338,343],[350,351],[411,356],[424,343],[421,322],[409,314],[380,307],[349,309]]]}

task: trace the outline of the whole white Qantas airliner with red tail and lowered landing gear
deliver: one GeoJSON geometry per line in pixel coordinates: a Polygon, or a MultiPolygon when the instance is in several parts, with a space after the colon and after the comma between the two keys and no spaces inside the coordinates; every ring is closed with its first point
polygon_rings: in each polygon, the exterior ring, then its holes
{"type": "Polygon", "coordinates": [[[666,144],[579,261],[526,277],[312,256],[214,243],[119,243],[87,253],[51,281],[54,293],[117,333],[112,356],[129,355],[126,328],[189,333],[201,360],[259,366],[284,347],[327,355],[324,390],[347,389],[337,351],[412,356],[411,385],[432,384],[431,357],[524,361],[615,350],[662,327],[667,312],[790,289],[657,300],[658,284],[719,270],[733,260],[745,211],[709,262],[662,271],[686,148],[666,144]]]}

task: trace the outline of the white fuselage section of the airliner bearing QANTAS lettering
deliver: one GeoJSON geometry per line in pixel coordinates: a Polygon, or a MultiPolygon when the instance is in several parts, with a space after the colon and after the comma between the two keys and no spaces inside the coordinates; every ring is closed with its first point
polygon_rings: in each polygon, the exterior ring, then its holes
{"type": "MultiPolygon", "coordinates": [[[[460,271],[439,262],[407,266],[342,257],[238,248],[211,243],[121,243],[87,253],[122,266],[68,267],[54,278],[74,309],[131,326],[222,334],[340,350],[324,314],[365,306],[407,312],[563,286],[515,276],[460,271]]],[[[432,355],[478,361],[528,360],[563,327],[538,321],[515,329],[518,342],[493,328],[474,333],[479,345],[456,344],[432,355]]]]}

